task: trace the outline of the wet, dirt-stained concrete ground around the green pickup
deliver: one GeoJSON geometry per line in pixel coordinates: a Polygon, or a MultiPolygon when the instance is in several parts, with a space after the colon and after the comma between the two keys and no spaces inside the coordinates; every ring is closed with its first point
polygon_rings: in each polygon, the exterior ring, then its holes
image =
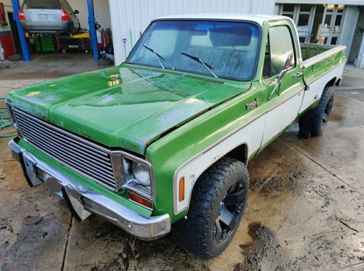
{"type": "MultiPolygon", "coordinates": [[[[2,91],[32,83],[16,78],[1,77],[2,91]]],[[[144,242],[95,215],[76,222],[46,186],[28,187],[0,139],[0,270],[364,270],[364,102],[347,96],[335,96],[322,136],[298,139],[294,123],[249,162],[242,223],[211,260],[168,235],[144,242]]]]}

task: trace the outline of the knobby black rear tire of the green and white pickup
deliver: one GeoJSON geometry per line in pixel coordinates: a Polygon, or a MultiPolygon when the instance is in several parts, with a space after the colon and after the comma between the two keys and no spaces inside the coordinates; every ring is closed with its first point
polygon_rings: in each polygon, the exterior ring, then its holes
{"type": "MultiPolygon", "coordinates": [[[[324,121],[323,116],[325,110],[327,110],[327,105],[329,101],[332,106],[333,97],[334,97],[333,87],[325,86],[324,91],[321,95],[320,102],[318,103],[317,107],[307,111],[300,117],[299,120],[300,132],[298,134],[299,136],[301,134],[301,137],[308,138],[308,136],[307,137],[302,136],[305,134],[305,132],[306,134],[309,132],[309,134],[312,136],[318,136],[323,133],[328,120],[327,117],[327,120],[324,121]]],[[[330,113],[331,113],[331,108],[328,113],[328,116],[330,116],[330,113]]]]}

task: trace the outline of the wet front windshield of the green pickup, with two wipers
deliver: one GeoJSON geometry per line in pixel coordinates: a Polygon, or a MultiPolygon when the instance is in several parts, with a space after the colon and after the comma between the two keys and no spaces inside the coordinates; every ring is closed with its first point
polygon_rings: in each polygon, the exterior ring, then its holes
{"type": "Polygon", "coordinates": [[[249,80],[254,76],[258,44],[259,29],[250,23],[155,21],[127,62],[249,80]]]}

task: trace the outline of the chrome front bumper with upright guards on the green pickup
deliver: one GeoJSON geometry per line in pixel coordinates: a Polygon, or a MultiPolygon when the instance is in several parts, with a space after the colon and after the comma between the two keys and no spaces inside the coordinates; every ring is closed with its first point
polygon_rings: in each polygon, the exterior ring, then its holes
{"type": "Polygon", "coordinates": [[[49,166],[35,156],[29,154],[16,142],[19,138],[9,142],[13,157],[21,163],[23,172],[30,186],[43,183],[39,172],[57,179],[63,186],[63,197],[72,215],[79,221],[86,219],[91,213],[100,215],[116,224],[129,234],[142,239],[153,240],[166,235],[171,230],[168,214],[160,216],[144,216],[125,206],[96,193],[76,182],[76,180],[49,166]]]}

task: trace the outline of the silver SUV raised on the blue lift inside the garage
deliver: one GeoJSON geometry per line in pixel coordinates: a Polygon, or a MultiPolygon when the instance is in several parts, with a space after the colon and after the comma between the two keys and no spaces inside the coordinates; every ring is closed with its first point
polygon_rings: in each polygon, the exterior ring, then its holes
{"type": "Polygon", "coordinates": [[[19,10],[21,26],[28,33],[69,34],[79,32],[80,21],[66,0],[24,0],[19,10]]]}

